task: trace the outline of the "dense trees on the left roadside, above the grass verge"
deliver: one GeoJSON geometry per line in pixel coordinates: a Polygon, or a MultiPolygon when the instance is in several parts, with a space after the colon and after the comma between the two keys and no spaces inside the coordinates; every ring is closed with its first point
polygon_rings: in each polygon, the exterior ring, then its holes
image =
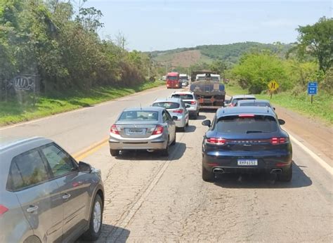
{"type": "Polygon", "coordinates": [[[18,74],[37,75],[41,93],[128,86],[145,79],[148,55],[126,51],[123,37],[101,40],[103,14],[84,2],[0,1],[1,90],[18,74]]]}

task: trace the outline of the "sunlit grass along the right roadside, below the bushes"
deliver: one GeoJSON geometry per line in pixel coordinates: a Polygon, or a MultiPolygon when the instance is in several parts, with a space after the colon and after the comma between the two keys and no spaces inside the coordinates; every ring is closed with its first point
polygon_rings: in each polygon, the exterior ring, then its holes
{"type": "MultiPolygon", "coordinates": [[[[229,84],[226,92],[229,96],[248,93],[237,84],[229,84]]],[[[256,98],[270,100],[268,94],[257,94],[256,98]]],[[[311,96],[308,96],[306,92],[299,93],[298,96],[293,96],[291,92],[274,93],[270,103],[333,124],[333,98],[329,93],[319,91],[318,95],[314,96],[312,105],[311,96]]]]}

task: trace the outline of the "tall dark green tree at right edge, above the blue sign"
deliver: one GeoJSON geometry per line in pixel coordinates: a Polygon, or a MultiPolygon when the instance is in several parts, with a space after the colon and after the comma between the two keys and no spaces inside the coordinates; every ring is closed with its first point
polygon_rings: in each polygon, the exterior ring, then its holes
{"type": "Polygon", "coordinates": [[[299,26],[299,51],[318,59],[319,69],[329,70],[333,63],[333,18],[322,17],[314,25],[299,26]]]}

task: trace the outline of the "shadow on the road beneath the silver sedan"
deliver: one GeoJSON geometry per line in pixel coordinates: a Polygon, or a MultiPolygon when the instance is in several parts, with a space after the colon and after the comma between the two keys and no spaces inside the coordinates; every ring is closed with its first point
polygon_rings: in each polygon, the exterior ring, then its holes
{"type": "Polygon", "coordinates": [[[146,150],[124,150],[115,159],[117,160],[154,160],[164,162],[166,160],[178,160],[183,157],[186,150],[185,143],[176,143],[176,145],[170,146],[169,156],[163,156],[162,152],[155,150],[148,152],[146,150]]]}

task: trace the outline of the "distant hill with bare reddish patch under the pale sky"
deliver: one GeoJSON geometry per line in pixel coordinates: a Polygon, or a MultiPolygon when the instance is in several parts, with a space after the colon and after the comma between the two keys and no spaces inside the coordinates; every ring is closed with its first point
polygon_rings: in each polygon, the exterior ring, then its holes
{"type": "Polygon", "coordinates": [[[222,59],[233,65],[240,56],[249,51],[270,50],[285,56],[292,44],[262,44],[258,42],[242,42],[226,45],[204,45],[191,48],[176,48],[167,51],[152,51],[153,60],[160,65],[172,67],[190,67],[197,63],[211,63],[215,59],[222,59]]]}

